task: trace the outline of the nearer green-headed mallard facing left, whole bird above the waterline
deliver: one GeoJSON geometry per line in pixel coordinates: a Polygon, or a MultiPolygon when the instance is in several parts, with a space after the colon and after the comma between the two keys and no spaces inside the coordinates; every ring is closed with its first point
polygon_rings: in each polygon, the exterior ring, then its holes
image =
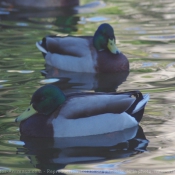
{"type": "Polygon", "coordinates": [[[54,85],[39,88],[31,105],[16,118],[21,135],[79,137],[121,131],[138,125],[149,95],[124,93],[70,93],[54,85]],[[135,96],[132,97],[132,96],[135,96]]]}

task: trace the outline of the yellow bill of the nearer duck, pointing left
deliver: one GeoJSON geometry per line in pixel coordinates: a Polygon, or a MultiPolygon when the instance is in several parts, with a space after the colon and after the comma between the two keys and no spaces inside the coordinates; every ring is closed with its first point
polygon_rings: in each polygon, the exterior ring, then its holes
{"type": "Polygon", "coordinates": [[[21,122],[22,120],[25,120],[36,113],[37,113],[37,111],[33,108],[32,104],[31,104],[20,116],[18,116],[15,119],[15,122],[21,122]]]}

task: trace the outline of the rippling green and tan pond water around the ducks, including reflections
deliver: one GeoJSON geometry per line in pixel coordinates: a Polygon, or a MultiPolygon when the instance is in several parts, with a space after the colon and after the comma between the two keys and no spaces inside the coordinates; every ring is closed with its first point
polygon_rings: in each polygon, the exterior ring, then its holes
{"type": "Polygon", "coordinates": [[[174,42],[173,0],[80,0],[78,7],[55,10],[26,10],[3,3],[0,172],[37,174],[42,170],[42,174],[53,174],[59,169],[60,174],[175,173],[172,172],[175,171],[174,42]],[[44,76],[44,59],[36,41],[48,34],[93,35],[103,22],[114,28],[118,48],[130,61],[129,74],[62,71],[58,76],[56,69],[47,67],[44,76]],[[64,92],[141,90],[150,94],[150,101],[141,127],[116,133],[120,135],[117,138],[115,134],[86,138],[87,143],[75,139],[76,144],[71,139],[20,138],[19,125],[14,120],[29,105],[33,92],[47,83],[59,86],[64,92]]]}

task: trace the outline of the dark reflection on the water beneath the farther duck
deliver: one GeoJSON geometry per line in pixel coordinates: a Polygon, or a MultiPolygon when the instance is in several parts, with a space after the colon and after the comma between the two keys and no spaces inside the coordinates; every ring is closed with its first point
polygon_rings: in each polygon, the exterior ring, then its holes
{"type": "Polygon", "coordinates": [[[46,80],[57,78],[59,81],[54,85],[61,89],[73,91],[94,90],[95,92],[116,92],[119,85],[126,81],[129,71],[117,73],[79,73],[58,70],[45,65],[41,71],[46,80]]]}

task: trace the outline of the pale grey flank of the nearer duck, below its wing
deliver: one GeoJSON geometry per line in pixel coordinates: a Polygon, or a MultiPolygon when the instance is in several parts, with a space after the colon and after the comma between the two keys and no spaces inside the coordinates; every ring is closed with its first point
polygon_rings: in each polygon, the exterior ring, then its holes
{"type": "Polygon", "coordinates": [[[79,137],[121,131],[138,125],[127,113],[100,114],[93,117],[66,119],[59,116],[52,121],[54,137],[79,137]]]}

